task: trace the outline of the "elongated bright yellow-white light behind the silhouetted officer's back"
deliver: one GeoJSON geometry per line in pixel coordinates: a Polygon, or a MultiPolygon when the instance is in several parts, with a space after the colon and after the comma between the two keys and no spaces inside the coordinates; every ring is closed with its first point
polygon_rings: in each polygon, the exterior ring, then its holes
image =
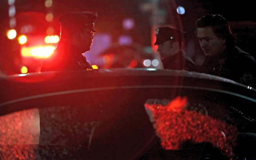
{"type": "Polygon", "coordinates": [[[52,55],[55,47],[53,46],[35,46],[35,47],[22,47],[21,55],[23,57],[46,58],[52,55]]]}

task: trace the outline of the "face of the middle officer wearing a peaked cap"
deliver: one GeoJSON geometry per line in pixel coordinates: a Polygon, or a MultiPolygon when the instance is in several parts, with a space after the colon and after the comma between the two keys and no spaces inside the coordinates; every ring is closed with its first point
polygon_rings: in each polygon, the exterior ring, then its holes
{"type": "Polygon", "coordinates": [[[161,44],[158,44],[157,52],[159,52],[161,60],[164,60],[168,56],[174,55],[175,49],[173,48],[172,40],[165,41],[161,44]]]}

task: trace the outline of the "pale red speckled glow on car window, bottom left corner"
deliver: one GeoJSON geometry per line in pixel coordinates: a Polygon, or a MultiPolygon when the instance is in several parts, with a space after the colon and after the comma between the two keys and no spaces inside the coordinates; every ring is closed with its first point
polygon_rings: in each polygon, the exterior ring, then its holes
{"type": "Polygon", "coordinates": [[[39,113],[23,110],[0,117],[0,159],[36,158],[39,143],[39,113]]]}

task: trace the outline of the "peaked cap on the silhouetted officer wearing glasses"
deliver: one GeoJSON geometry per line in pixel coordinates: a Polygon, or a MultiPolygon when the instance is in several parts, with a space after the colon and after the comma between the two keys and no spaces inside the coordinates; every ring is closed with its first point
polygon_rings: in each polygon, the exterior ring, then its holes
{"type": "Polygon", "coordinates": [[[95,31],[94,22],[97,18],[97,12],[69,12],[58,17],[58,22],[62,25],[75,24],[79,26],[84,26],[92,28],[92,31],[95,31]]]}

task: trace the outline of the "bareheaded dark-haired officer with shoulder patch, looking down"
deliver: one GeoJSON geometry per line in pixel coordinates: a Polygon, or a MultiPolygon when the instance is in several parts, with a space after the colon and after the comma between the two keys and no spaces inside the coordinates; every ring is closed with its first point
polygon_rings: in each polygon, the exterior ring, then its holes
{"type": "Polygon", "coordinates": [[[218,14],[196,21],[196,36],[206,58],[199,72],[255,87],[256,61],[235,45],[228,20],[218,14]]]}

